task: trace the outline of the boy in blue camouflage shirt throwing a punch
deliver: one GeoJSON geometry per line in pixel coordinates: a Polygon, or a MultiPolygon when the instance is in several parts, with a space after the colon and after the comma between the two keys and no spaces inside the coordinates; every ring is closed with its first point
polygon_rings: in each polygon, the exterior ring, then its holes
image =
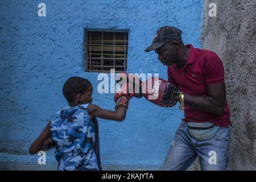
{"type": "Polygon", "coordinates": [[[52,143],[56,147],[58,170],[101,170],[96,117],[122,121],[134,94],[115,93],[115,111],[110,111],[91,104],[92,92],[92,84],[85,78],[69,78],[63,86],[69,106],[48,122],[31,144],[30,154],[45,150],[52,143]]]}

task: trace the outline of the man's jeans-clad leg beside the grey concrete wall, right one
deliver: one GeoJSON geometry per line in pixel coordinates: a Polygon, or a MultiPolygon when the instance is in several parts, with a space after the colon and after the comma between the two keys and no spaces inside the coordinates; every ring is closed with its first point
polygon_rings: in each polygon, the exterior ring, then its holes
{"type": "Polygon", "coordinates": [[[197,141],[201,170],[224,171],[228,165],[231,127],[220,127],[212,139],[197,141]]]}

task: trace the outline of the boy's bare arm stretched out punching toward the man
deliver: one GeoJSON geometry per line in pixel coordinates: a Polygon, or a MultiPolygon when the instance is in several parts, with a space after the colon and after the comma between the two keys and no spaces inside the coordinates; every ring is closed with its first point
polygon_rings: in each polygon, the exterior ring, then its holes
{"type": "Polygon", "coordinates": [[[101,109],[101,107],[89,104],[88,113],[92,115],[92,117],[99,117],[102,119],[112,119],[115,121],[123,121],[125,119],[127,108],[125,106],[119,106],[115,111],[101,109]]]}

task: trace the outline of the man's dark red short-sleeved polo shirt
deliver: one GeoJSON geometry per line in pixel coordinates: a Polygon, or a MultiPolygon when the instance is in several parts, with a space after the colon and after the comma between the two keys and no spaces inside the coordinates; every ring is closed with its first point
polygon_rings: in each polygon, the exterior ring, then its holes
{"type": "MultiPolygon", "coordinates": [[[[193,48],[191,44],[187,63],[183,68],[176,64],[168,67],[168,81],[179,86],[179,90],[191,96],[207,96],[207,85],[224,82],[224,67],[218,55],[212,51],[193,48]]],[[[185,105],[183,121],[212,122],[215,125],[228,127],[230,121],[228,102],[221,115],[207,113],[185,105]]]]}

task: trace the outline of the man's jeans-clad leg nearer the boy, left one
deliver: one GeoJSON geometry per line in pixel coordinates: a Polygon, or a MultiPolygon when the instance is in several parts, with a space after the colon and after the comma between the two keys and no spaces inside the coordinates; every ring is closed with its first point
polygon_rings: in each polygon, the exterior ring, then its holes
{"type": "Polygon", "coordinates": [[[191,144],[187,124],[181,122],[164,160],[163,171],[185,170],[195,161],[197,154],[191,144]]]}

